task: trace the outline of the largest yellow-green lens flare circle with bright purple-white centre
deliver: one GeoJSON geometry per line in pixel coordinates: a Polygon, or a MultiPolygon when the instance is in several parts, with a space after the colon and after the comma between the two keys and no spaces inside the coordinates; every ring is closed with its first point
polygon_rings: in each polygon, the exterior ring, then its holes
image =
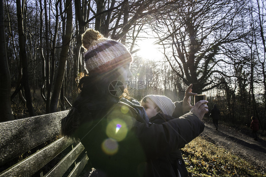
{"type": "Polygon", "coordinates": [[[127,124],[125,121],[118,118],[110,121],[106,127],[106,135],[118,142],[126,138],[127,132],[127,124]]]}

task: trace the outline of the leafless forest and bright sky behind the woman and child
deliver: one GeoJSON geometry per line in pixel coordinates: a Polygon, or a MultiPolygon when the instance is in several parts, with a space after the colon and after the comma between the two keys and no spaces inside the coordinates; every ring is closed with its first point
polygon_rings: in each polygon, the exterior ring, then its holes
{"type": "Polygon", "coordinates": [[[93,28],[134,56],[131,97],[180,101],[192,83],[224,121],[250,125],[257,116],[266,128],[265,1],[1,2],[0,121],[16,118],[15,103],[36,115],[37,95],[43,113],[70,108],[84,72],[81,34],[93,28]],[[139,55],[146,39],[159,46],[161,58],[139,55]]]}

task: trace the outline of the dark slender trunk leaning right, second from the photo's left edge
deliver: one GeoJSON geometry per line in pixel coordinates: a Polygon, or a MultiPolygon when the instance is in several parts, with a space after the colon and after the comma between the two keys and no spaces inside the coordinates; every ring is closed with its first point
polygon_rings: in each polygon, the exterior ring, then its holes
{"type": "MultiPolygon", "coordinates": [[[[22,61],[22,82],[25,92],[26,106],[30,116],[35,116],[32,106],[32,97],[30,92],[29,80],[28,80],[28,61],[26,55],[26,39],[23,33],[23,17],[21,12],[20,0],[16,0],[17,5],[17,17],[18,17],[18,34],[19,34],[19,57],[22,61]]],[[[24,8],[24,7],[23,7],[24,8]]]]}

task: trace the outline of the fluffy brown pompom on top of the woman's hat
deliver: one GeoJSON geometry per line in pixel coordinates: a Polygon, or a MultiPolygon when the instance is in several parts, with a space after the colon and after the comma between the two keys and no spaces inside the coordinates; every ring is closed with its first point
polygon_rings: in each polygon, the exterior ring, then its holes
{"type": "Polygon", "coordinates": [[[88,50],[88,48],[90,48],[90,45],[93,43],[93,41],[96,41],[101,38],[103,38],[103,35],[101,35],[99,31],[95,31],[89,28],[81,36],[82,47],[88,50]]]}

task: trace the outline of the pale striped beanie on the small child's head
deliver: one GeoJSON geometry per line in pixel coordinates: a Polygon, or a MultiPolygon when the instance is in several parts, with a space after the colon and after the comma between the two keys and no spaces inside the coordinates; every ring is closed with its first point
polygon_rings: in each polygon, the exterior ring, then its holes
{"type": "MultiPolygon", "coordinates": [[[[174,113],[175,105],[170,98],[162,95],[147,95],[144,98],[149,98],[154,104],[161,109],[163,114],[172,116],[174,113]]],[[[144,99],[143,98],[143,99],[144,99]]]]}

